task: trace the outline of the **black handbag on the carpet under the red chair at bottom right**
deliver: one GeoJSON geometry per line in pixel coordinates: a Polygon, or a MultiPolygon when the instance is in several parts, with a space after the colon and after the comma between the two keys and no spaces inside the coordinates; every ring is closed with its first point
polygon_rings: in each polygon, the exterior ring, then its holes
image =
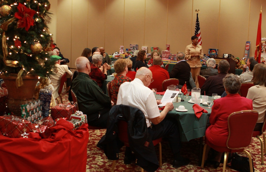
{"type": "MultiPolygon", "coordinates": [[[[254,172],[253,159],[252,167],[254,172]]],[[[242,157],[237,153],[233,153],[232,155],[231,168],[240,172],[251,172],[248,157],[242,157]]]]}

